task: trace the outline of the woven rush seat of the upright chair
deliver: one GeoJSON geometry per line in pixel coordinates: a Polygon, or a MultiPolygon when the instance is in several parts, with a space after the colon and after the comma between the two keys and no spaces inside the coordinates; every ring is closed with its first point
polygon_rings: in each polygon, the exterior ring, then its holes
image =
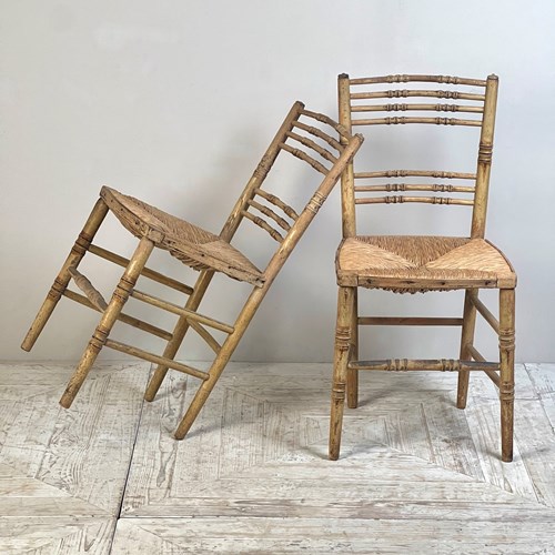
{"type": "Polygon", "coordinates": [[[516,274],[503,253],[483,239],[353,236],[341,243],[336,270],[339,285],[398,293],[461,289],[460,282],[463,287],[473,282],[485,287],[516,285],[516,274]]]}

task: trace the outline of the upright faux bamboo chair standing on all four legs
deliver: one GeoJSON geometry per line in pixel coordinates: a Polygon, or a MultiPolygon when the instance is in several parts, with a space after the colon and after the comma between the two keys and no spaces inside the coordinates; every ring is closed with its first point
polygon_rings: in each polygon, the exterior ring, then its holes
{"type": "MultiPolygon", "coordinates": [[[[339,77],[340,123],[354,127],[433,124],[480,130],[475,172],[389,170],[360,171],[350,163],[342,176],[343,241],[336,254],[339,284],[330,458],[340,453],[345,391],[356,407],[359,371],[453,371],[458,373],[457,407],[464,408],[470,371],[483,371],[500,390],[502,460],[513,457],[514,302],[516,275],[503,253],[484,239],[490,169],[497,98],[497,77],[486,80],[444,75],[339,77]],[[392,90],[384,90],[384,83],[392,90]],[[403,83],[403,84],[397,84],[403,83]],[[404,83],[426,83],[407,89],[404,83]],[[435,90],[445,83],[450,90],[435,90]],[[377,87],[376,87],[377,85],[377,87]],[[451,85],[456,85],[454,89],[451,85]],[[421,103],[398,102],[421,98],[421,103]],[[428,100],[435,99],[435,100],[428,100]],[[451,99],[456,104],[450,103],[451,99]],[[417,111],[415,117],[376,112],[417,111]],[[465,112],[465,119],[427,117],[425,112],[465,112]],[[424,115],[422,115],[424,112],[424,115]],[[403,178],[391,182],[392,179],[403,178]],[[427,181],[423,184],[423,180],[427,181]],[[416,179],[416,182],[414,180],[416,179]],[[438,183],[437,180],[448,180],[438,183]],[[370,184],[369,184],[370,183],[370,184]],[[414,192],[423,191],[423,195],[414,192]],[[398,193],[398,194],[390,194],[398,193]],[[444,194],[447,193],[447,194],[444,194]],[[355,208],[379,203],[431,203],[472,208],[470,236],[367,236],[356,232],[355,208]],[[396,293],[465,290],[463,317],[370,317],[359,315],[357,289],[396,293]],[[500,320],[478,299],[480,289],[500,290],[500,320]],[[474,346],[476,312],[498,334],[500,363],[486,362],[474,346]],[[361,325],[457,325],[462,327],[458,360],[359,360],[361,325]]],[[[416,101],[418,102],[418,101],[416,101]]],[[[372,129],[372,128],[371,128],[372,129]]],[[[478,134],[478,133],[476,133],[478,134]]],[[[355,162],[356,164],[356,162],[355,162]]],[[[440,161],[441,164],[441,161],[440,161]]],[[[443,209],[443,208],[442,208],[443,209]]],[[[445,209],[443,209],[445,210],[445,209]]],[[[448,209],[457,210],[457,209],[448,209]]]]}

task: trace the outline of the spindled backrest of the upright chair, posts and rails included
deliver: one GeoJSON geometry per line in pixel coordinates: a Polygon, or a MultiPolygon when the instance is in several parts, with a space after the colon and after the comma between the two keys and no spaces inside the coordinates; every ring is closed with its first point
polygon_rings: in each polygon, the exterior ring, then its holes
{"type": "Polygon", "coordinates": [[[349,131],[359,127],[404,124],[480,129],[476,167],[472,172],[444,169],[355,171],[351,162],[342,176],[343,236],[356,234],[355,206],[359,204],[426,203],[472,206],[471,236],[483,238],[497,82],[496,75],[486,80],[417,74],[362,79],[351,79],[344,73],[339,75],[339,120],[349,131]],[[447,85],[448,90],[437,90],[435,83],[447,85]],[[415,102],[398,101],[413,98],[415,102]],[[392,117],[391,112],[403,112],[403,115],[392,117]],[[405,115],[406,112],[415,112],[415,115],[405,115]],[[458,112],[461,117],[431,117],[430,112],[458,112]]]}

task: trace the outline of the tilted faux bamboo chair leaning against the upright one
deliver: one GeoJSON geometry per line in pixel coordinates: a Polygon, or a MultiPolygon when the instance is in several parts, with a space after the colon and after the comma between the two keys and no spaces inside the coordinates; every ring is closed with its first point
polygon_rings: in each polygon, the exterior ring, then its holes
{"type": "Polygon", "coordinates": [[[148,401],[154,398],[169,369],[201,380],[199,390],[175,432],[178,440],[183,438],[218,382],[278,272],[361,143],[362,137],[352,137],[350,132],[326,115],[305,110],[301,102],[294,103],[254,170],[220,235],[212,234],[132,196],[103,186],[100,191],[100,199],[21,345],[26,351],[31,350],[61,296],[102,313],[100,323],[71,376],[60,404],[64,407],[71,405],[99,352],[103,346],[107,346],[158,364],[145,392],[148,401]],[[304,194],[310,200],[306,204],[297,206],[296,210],[278,195],[262,189],[266,174],[281,152],[284,152],[285,155],[293,154],[316,170],[321,178],[323,176],[321,180],[315,179],[317,182],[315,188],[314,184],[307,185],[311,189],[304,194]],[[312,191],[314,192],[311,195],[312,191]],[[128,231],[140,239],[130,260],[92,244],[94,234],[109,211],[128,231]],[[264,270],[259,270],[230,243],[239,225],[244,221],[254,224],[254,229],[268,232],[279,244],[264,270]],[[190,287],[148,269],[145,264],[154,248],[169,251],[184,264],[200,270],[194,286],[190,287]],[[77,269],[87,252],[125,268],[110,302],[104,301],[100,292],[77,269]],[[253,286],[233,324],[225,324],[196,312],[215,272],[248,282],[253,286]],[[189,299],[184,307],[138,291],[135,283],[141,275],[188,294],[189,299]],[[68,289],[71,280],[83,291],[85,296],[68,289]],[[174,330],[170,333],[122,313],[123,305],[130,296],[176,314],[179,319],[174,330]],[[165,340],[167,346],[163,354],[153,354],[112,340],[110,333],[118,320],[165,340]],[[189,327],[199,333],[215,352],[215,359],[206,372],[174,361],[189,327]],[[208,329],[223,332],[225,334],[223,343],[220,344],[208,329]]]}

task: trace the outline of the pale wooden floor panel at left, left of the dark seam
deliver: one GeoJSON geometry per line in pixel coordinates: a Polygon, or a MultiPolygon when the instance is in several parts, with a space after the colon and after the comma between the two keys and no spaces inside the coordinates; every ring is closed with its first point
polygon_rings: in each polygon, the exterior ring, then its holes
{"type": "Polygon", "coordinates": [[[14,372],[14,366],[1,366],[0,392],[2,382],[8,382],[10,396],[20,392],[19,403],[0,403],[0,463],[11,473],[6,480],[0,475],[1,514],[75,516],[118,511],[149,367],[100,366],[75,410],[67,412],[56,398],[71,370],[71,365],[39,365],[32,372],[14,372]],[[33,389],[30,397],[28,383],[33,389]]]}

